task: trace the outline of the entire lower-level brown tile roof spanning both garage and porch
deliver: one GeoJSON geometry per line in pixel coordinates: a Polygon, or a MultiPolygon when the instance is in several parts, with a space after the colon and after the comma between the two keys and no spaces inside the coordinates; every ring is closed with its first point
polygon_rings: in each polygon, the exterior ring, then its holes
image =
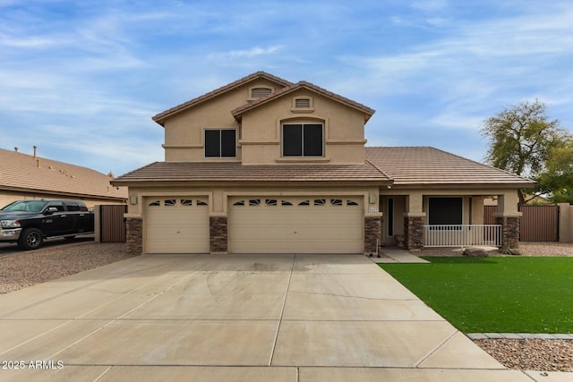
{"type": "Polygon", "coordinates": [[[365,148],[362,165],[155,162],[112,184],[149,182],[374,182],[397,187],[532,187],[535,182],[430,147],[365,148]]]}

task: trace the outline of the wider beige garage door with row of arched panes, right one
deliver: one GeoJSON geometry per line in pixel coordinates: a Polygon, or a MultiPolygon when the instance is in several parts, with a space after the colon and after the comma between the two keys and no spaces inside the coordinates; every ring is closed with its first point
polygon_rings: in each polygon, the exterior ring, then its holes
{"type": "Polygon", "coordinates": [[[230,198],[233,253],[361,253],[359,197],[230,198]]]}

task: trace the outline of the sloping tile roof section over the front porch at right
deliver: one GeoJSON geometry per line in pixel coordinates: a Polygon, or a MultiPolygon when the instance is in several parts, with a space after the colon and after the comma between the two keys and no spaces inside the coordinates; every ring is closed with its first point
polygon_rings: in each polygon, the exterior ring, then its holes
{"type": "Polygon", "coordinates": [[[516,174],[431,147],[365,148],[365,157],[389,174],[395,186],[535,186],[516,174]]]}

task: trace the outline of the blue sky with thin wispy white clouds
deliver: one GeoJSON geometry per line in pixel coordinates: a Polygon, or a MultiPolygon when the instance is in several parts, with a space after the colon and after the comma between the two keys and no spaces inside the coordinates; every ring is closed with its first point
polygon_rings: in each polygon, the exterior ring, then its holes
{"type": "Polygon", "coordinates": [[[483,161],[524,100],[573,128],[570,0],[0,0],[0,148],[124,174],[163,160],[151,116],[252,72],[376,110],[369,146],[483,161]]]}

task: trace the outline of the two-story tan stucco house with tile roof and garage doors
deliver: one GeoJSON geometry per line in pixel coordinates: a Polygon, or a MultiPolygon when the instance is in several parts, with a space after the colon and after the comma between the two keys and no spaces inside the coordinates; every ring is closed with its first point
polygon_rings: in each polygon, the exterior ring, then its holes
{"type": "Polygon", "coordinates": [[[479,239],[517,246],[531,181],[439,149],[365,147],[373,114],[255,72],[155,115],[165,161],[114,181],[129,187],[130,251],[375,253],[396,237],[419,249],[436,233],[475,239],[490,196],[500,225],[479,239]]]}

